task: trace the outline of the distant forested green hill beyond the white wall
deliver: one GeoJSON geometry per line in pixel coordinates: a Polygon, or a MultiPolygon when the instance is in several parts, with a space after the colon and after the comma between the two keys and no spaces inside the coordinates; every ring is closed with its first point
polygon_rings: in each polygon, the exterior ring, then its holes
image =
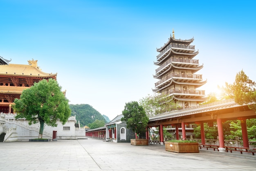
{"type": "Polygon", "coordinates": [[[106,115],[101,115],[89,104],[70,104],[71,115],[76,115],[76,120],[80,121],[80,126],[94,122],[95,120],[104,120],[105,123],[109,122],[109,118],[106,115]]]}

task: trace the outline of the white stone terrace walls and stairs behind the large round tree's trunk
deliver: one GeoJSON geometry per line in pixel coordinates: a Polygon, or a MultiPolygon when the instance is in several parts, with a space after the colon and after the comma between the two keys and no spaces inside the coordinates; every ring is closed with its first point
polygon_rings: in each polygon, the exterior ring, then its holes
{"type": "MultiPolygon", "coordinates": [[[[3,142],[13,142],[18,140],[27,140],[38,138],[40,123],[28,124],[26,119],[15,119],[13,113],[0,114],[0,134],[4,135],[3,142]]],[[[43,138],[52,139],[53,131],[57,131],[57,139],[82,139],[85,138],[85,129],[75,127],[76,116],[70,116],[63,125],[57,122],[57,127],[50,127],[45,124],[43,138]]]]}

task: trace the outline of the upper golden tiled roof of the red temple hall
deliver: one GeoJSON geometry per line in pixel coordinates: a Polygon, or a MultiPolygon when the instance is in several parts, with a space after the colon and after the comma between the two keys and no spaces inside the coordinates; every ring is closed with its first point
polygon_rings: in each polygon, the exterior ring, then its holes
{"type": "Polygon", "coordinates": [[[29,64],[0,65],[0,76],[56,77],[57,73],[45,73],[37,67],[37,60],[28,60],[29,64]]]}

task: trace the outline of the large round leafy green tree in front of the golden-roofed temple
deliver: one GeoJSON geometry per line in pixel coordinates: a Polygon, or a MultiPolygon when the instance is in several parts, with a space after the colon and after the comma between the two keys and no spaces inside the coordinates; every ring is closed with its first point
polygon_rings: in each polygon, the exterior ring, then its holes
{"type": "Polygon", "coordinates": [[[57,120],[65,124],[71,114],[68,99],[52,78],[34,83],[22,91],[20,99],[15,99],[14,103],[13,109],[18,113],[16,118],[26,118],[29,125],[40,122],[38,138],[43,136],[44,124],[56,127],[57,120]]]}

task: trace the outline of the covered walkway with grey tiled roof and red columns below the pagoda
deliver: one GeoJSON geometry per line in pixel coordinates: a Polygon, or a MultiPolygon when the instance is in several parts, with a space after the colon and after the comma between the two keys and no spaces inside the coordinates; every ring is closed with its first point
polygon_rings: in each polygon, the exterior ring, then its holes
{"type": "MultiPolygon", "coordinates": [[[[204,123],[213,126],[213,122],[217,122],[219,149],[225,150],[224,135],[222,122],[227,120],[241,120],[243,133],[243,147],[250,148],[247,135],[246,120],[256,118],[256,113],[248,108],[248,105],[239,105],[234,102],[234,99],[213,102],[210,104],[200,105],[187,109],[170,111],[161,115],[152,116],[149,118],[148,127],[158,127],[161,144],[164,144],[163,127],[171,126],[176,132],[179,128],[182,129],[182,139],[186,138],[186,127],[189,124],[200,124],[201,126],[201,144],[205,143],[204,123]]],[[[148,133],[148,131],[147,131],[148,133]]],[[[149,135],[147,134],[147,138],[149,135]]],[[[176,134],[176,139],[180,139],[176,134]]]]}

